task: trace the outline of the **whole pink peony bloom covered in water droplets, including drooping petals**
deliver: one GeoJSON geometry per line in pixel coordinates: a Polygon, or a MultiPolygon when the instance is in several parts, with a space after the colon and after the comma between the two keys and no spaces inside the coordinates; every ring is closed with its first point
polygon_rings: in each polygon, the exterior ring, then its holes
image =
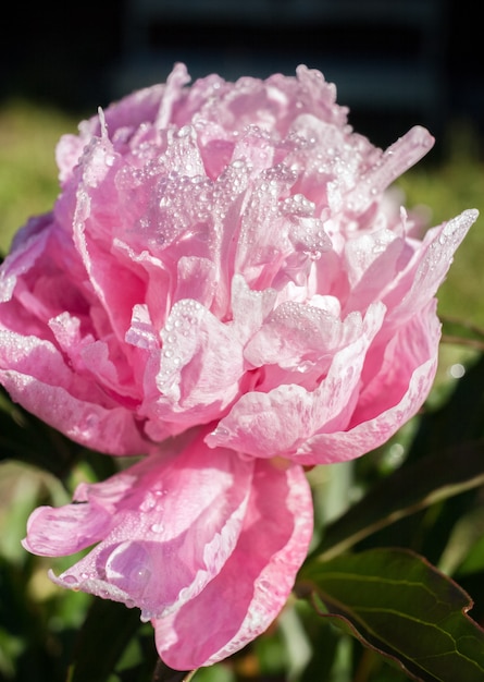
{"type": "Polygon", "coordinates": [[[138,607],[178,669],[284,606],[312,531],[303,465],[372,450],[422,405],[435,292],[476,217],[420,239],[386,188],[431,135],[373,147],[317,71],[188,80],[178,64],[61,139],[53,211],[0,271],[13,400],[144,455],[35,511],[25,547],[94,546],[52,580],[138,607]]]}

